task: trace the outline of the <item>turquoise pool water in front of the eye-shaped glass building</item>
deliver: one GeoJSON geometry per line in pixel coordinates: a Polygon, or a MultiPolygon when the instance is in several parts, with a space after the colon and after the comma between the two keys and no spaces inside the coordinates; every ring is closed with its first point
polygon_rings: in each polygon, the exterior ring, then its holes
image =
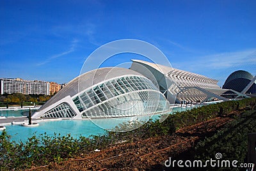
{"type": "MultiPolygon", "coordinates": [[[[189,110],[191,107],[175,107],[172,110],[184,111],[189,110]]],[[[13,111],[9,110],[10,115],[24,115],[24,112],[28,111],[13,111]],[[11,114],[13,112],[13,114],[11,114]],[[19,114],[20,112],[20,114],[19,114]]],[[[54,133],[64,136],[70,133],[72,137],[78,138],[79,136],[89,137],[90,135],[103,135],[106,133],[105,129],[113,129],[120,123],[127,123],[128,121],[143,120],[147,121],[150,116],[141,117],[125,117],[125,118],[109,118],[109,119],[92,119],[91,120],[61,120],[61,121],[42,121],[40,126],[34,128],[28,128],[20,125],[7,125],[6,132],[11,135],[11,140],[19,142],[25,142],[33,134],[40,135],[47,133],[49,136],[53,136],[54,133]]],[[[152,119],[159,119],[159,115],[153,115],[152,119]]]]}

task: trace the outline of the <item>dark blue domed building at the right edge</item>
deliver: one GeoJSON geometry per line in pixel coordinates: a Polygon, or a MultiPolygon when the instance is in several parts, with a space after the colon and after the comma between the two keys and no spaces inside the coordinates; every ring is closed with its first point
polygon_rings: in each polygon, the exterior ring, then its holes
{"type": "Polygon", "coordinates": [[[223,89],[232,89],[239,93],[255,94],[255,78],[248,71],[238,70],[231,73],[223,85],[223,89]]]}

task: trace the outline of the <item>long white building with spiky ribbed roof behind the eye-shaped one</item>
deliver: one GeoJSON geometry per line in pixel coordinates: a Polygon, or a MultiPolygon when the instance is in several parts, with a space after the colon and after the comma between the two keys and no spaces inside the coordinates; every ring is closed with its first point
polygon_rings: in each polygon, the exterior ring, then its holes
{"type": "Polygon", "coordinates": [[[149,63],[147,61],[132,60],[131,70],[137,71],[150,80],[157,80],[161,93],[166,96],[170,103],[182,103],[182,101],[201,102],[211,98],[227,101],[221,94],[232,91],[239,96],[245,96],[237,91],[221,89],[217,85],[218,80],[205,77],[196,73],[182,71],[161,64],[149,63]],[[152,76],[148,75],[152,73],[152,76]]]}

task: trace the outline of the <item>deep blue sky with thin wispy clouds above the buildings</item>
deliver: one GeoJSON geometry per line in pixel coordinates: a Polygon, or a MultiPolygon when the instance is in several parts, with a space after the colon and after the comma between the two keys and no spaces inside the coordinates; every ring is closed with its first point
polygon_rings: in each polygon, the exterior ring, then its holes
{"type": "Polygon", "coordinates": [[[256,1],[1,0],[0,77],[67,83],[95,49],[129,38],[222,85],[232,71],[256,74],[255,8],[256,1]]]}

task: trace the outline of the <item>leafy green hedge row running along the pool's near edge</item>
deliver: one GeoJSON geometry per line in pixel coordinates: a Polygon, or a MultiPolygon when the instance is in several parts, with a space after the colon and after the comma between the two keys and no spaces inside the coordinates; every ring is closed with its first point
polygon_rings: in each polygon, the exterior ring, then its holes
{"type": "Polygon", "coordinates": [[[13,142],[10,135],[3,131],[0,135],[0,170],[26,169],[31,166],[47,165],[51,162],[58,162],[83,156],[95,149],[103,149],[120,142],[134,142],[148,137],[163,135],[172,135],[176,130],[184,126],[190,126],[202,121],[212,119],[217,115],[225,115],[232,110],[244,110],[255,107],[255,98],[248,98],[240,101],[227,101],[207,105],[199,108],[193,108],[186,112],[175,112],[163,122],[147,123],[124,123],[117,130],[131,126],[140,126],[140,128],[127,131],[115,132],[109,131],[106,135],[91,136],[90,138],[73,138],[70,135],[35,135],[25,143],[13,142]]]}

